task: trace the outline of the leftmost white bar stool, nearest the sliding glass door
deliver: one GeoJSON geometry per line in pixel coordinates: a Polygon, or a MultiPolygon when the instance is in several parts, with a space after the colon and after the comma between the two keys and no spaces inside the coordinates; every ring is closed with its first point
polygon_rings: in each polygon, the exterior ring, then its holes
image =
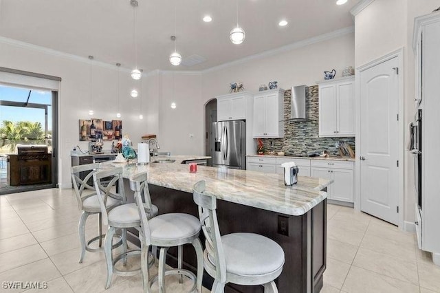
{"type": "MultiPolygon", "coordinates": [[[[102,213],[98,202],[98,197],[96,196],[96,191],[94,186],[90,186],[87,182],[96,173],[100,164],[85,164],[79,166],[73,166],[70,169],[72,175],[72,183],[74,185],[74,191],[76,195],[76,200],[78,201],[78,208],[83,210],[81,214],[80,221],[78,223],[78,234],[80,237],[80,259],[79,263],[83,262],[86,250],[89,252],[98,252],[102,250],[102,239],[104,239],[105,234],[102,234],[102,213]],[[80,174],[87,173],[84,179],[80,178],[80,174]],[[85,225],[89,215],[98,214],[98,236],[86,241],[85,239],[85,225]],[[98,248],[91,248],[91,243],[95,241],[98,242],[98,248]]],[[[111,195],[107,199],[105,209],[111,210],[115,206],[122,204],[122,198],[117,195],[111,195]],[[112,197],[113,196],[113,197],[112,197]]],[[[116,248],[122,244],[122,240],[113,245],[116,248]]]]}

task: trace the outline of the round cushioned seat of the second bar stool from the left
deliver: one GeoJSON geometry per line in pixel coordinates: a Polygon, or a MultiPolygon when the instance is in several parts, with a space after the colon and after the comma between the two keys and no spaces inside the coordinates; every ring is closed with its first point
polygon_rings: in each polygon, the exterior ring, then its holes
{"type": "MultiPolygon", "coordinates": [[[[154,204],[151,205],[151,210],[146,211],[146,217],[151,218],[157,215],[158,209],[154,204]]],[[[123,204],[116,206],[109,211],[109,224],[114,227],[132,227],[140,226],[140,215],[135,203],[123,204]],[[127,226],[128,225],[128,226],[127,226]]]]}

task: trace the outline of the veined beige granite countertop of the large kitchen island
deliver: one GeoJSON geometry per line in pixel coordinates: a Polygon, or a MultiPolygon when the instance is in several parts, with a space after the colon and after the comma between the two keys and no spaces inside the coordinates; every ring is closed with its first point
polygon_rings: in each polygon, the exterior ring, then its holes
{"type": "MultiPolygon", "coordinates": [[[[308,210],[327,198],[321,191],[333,180],[314,177],[298,177],[298,184],[285,186],[283,175],[267,174],[255,171],[197,166],[197,173],[189,173],[184,160],[199,160],[203,156],[155,157],[176,160],[175,163],[150,163],[144,166],[136,164],[107,162],[103,165],[122,166],[124,178],[147,171],[148,183],[178,191],[192,193],[192,186],[199,180],[206,181],[206,193],[236,204],[272,210],[285,215],[304,215],[308,210]]],[[[153,158],[153,159],[155,159],[153,158]]]]}

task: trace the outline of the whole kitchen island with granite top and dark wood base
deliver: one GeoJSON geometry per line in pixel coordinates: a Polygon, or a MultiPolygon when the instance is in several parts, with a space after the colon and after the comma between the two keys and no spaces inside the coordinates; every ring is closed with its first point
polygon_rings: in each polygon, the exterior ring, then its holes
{"type": "MultiPolygon", "coordinates": [[[[206,157],[174,156],[166,158],[175,160],[174,163],[113,166],[123,166],[127,180],[136,173],[148,172],[151,200],[159,214],[178,212],[198,217],[197,206],[192,202],[192,186],[205,180],[206,193],[218,199],[222,235],[255,232],[274,239],[283,248],[285,265],[276,281],[279,292],[319,292],[326,265],[325,190],[332,181],[298,177],[298,184],[285,186],[283,176],[278,174],[209,166],[198,166],[197,173],[189,173],[188,165],[180,164],[199,158],[206,157]]],[[[129,184],[125,183],[128,191],[129,184]]],[[[175,265],[173,257],[177,252],[169,250],[169,254],[168,263],[175,265]]],[[[184,249],[184,261],[190,269],[195,264],[195,253],[189,247],[184,249]]],[[[210,284],[212,279],[206,274],[203,285],[210,284]]],[[[228,285],[225,292],[263,292],[263,287],[228,285]]]]}

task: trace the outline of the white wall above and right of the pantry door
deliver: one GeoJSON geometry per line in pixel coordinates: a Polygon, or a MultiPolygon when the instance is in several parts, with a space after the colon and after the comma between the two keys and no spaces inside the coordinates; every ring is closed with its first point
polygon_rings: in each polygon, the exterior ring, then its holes
{"type": "MultiPolygon", "coordinates": [[[[404,48],[404,125],[414,118],[415,59],[412,52],[414,18],[440,6],[439,0],[375,0],[355,17],[355,66],[404,48]]],[[[404,221],[415,219],[414,164],[404,141],[404,221]]]]}

